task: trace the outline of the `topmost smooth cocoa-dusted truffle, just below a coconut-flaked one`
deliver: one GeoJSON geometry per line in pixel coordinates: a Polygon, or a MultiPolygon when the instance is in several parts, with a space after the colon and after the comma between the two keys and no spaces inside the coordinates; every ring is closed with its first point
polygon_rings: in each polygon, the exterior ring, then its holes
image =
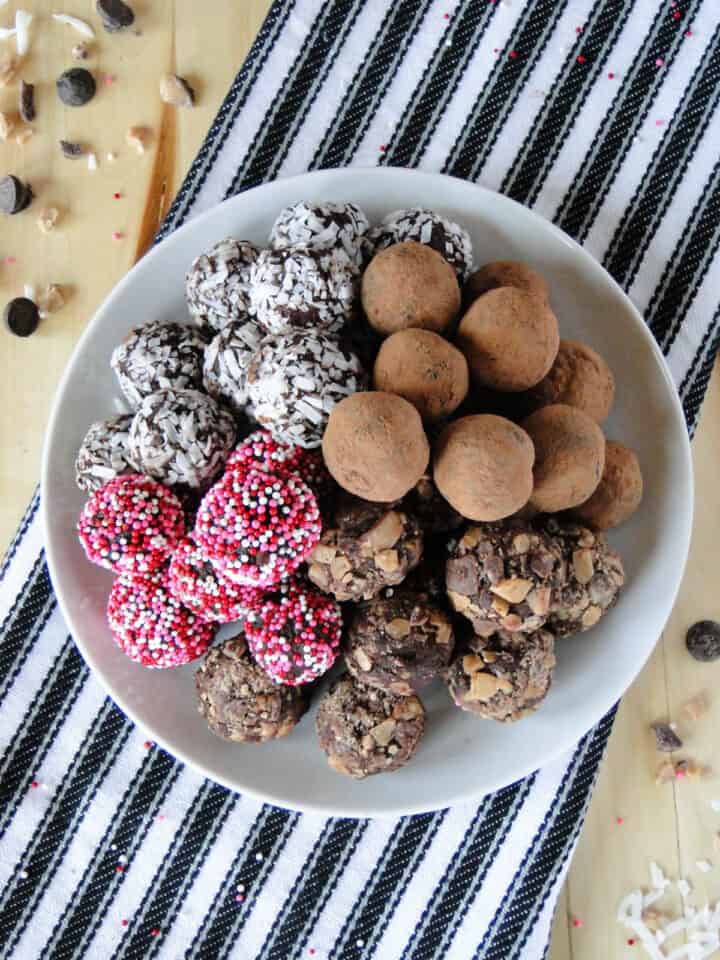
{"type": "Polygon", "coordinates": [[[441,333],[460,309],[460,287],[444,257],[408,240],[370,261],[362,278],[362,305],[370,326],[385,336],[408,327],[441,333]]]}

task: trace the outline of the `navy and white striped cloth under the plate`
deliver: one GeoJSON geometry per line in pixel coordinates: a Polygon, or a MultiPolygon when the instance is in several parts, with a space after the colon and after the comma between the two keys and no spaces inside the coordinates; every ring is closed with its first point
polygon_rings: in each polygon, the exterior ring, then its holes
{"type": "MultiPolygon", "coordinates": [[[[275,177],[420,166],[533,206],[644,312],[692,431],[720,337],[717,0],[277,0],[160,236],[275,177]]],[[[0,956],[538,960],[612,725],[473,805],[326,820],[148,743],[0,574],[0,956]]]]}

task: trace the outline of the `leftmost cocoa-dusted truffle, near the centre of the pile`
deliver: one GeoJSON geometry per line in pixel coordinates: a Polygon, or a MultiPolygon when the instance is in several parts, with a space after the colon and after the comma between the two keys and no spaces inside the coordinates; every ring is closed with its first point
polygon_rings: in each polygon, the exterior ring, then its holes
{"type": "Polygon", "coordinates": [[[322,449],[341,487],[386,503],[415,486],[430,456],[415,407],[381,391],[355,393],[333,407],[322,449]]]}

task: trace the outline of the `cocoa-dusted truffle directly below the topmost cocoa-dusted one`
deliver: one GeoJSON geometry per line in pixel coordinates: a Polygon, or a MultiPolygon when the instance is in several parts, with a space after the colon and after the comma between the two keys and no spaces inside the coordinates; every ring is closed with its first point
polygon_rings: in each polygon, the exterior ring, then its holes
{"type": "Polygon", "coordinates": [[[465,357],[431,330],[398,330],[380,347],[373,370],[376,390],[405,397],[428,421],[450,416],[469,381],[465,357]]]}

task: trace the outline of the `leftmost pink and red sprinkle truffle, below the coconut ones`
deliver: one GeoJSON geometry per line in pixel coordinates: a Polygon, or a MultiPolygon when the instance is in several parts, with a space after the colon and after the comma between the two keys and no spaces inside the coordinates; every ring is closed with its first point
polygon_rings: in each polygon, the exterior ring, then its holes
{"type": "Polygon", "coordinates": [[[152,573],[165,563],[184,533],[178,498],[140,474],[116,477],[100,487],[78,520],[88,560],[116,573],[152,573]]]}

